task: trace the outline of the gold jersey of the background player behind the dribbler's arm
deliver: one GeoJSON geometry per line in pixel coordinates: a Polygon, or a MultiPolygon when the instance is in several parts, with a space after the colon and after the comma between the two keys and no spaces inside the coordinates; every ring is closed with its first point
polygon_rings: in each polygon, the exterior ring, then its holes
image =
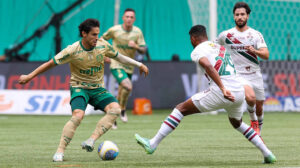
{"type": "MultiPolygon", "coordinates": [[[[116,25],[107,30],[102,36],[105,40],[112,39],[113,47],[121,54],[134,59],[136,49],[128,46],[128,42],[133,40],[140,47],[145,47],[145,40],[142,31],[133,26],[131,31],[123,29],[122,25],[116,25]]],[[[118,61],[111,60],[111,69],[124,69],[125,72],[132,74],[134,66],[125,65],[118,61]]]]}

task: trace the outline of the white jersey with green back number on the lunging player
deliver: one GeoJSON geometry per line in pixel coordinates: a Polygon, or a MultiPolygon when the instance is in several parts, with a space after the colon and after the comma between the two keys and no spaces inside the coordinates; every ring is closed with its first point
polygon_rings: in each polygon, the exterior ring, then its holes
{"type": "MultiPolygon", "coordinates": [[[[226,89],[232,91],[243,90],[242,84],[236,77],[231,56],[224,46],[211,41],[205,41],[197,45],[191,53],[191,58],[194,62],[199,64],[199,60],[203,57],[206,57],[216,69],[226,89]]],[[[202,71],[201,74],[205,73],[205,69],[201,66],[200,70],[202,71]]],[[[206,75],[206,77],[208,78],[211,87],[218,87],[208,75],[206,75]]]]}

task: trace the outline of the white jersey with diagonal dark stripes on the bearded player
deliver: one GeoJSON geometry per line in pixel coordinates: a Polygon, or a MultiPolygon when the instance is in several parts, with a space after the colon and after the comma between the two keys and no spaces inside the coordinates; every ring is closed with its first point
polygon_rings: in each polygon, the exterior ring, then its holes
{"type": "Polygon", "coordinates": [[[220,33],[216,42],[230,51],[237,73],[260,71],[258,56],[245,49],[245,46],[253,46],[255,49],[267,48],[262,34],[257,30],[249,27],[240,32],[234,27],[220,33]]]}

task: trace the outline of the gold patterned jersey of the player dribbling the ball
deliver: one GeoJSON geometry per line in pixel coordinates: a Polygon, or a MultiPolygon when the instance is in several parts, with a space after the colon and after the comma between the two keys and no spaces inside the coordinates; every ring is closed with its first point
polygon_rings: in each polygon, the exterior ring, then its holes
{"type": "Polygon", "coordinates": [[[95,89],[104,87],[103,56],[114,58],[117,55],[118,52],[104,39],[99,39],[96,47],[90,50],[77,41],[58,53],[53,61],[55,64],[70,64],[72,87],[95,89]]]}

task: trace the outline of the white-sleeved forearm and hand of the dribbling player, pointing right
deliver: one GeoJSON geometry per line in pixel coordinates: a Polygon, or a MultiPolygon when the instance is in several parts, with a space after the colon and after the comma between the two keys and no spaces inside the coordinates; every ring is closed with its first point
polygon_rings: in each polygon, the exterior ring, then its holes
{"type": "Polygon", "coordinates": [[[114,59],[117,60],[117,61],[119,61],[119,62],[121,62],[121,63],[123,63],[123,64],[129,64],[129,65],[133,65],[133,66],[139,67],[140,74],[145,73],[145,76],[147,76],[148,73],[149,73],[148,67],[146,65],[144,65],[143,63],[138,62],[138,61],[136,61],[134,59],[131,59],[131,58],[127,57],[127,56],[124,56],[124,55],[122,55],[120,53],[114,59]]]}

